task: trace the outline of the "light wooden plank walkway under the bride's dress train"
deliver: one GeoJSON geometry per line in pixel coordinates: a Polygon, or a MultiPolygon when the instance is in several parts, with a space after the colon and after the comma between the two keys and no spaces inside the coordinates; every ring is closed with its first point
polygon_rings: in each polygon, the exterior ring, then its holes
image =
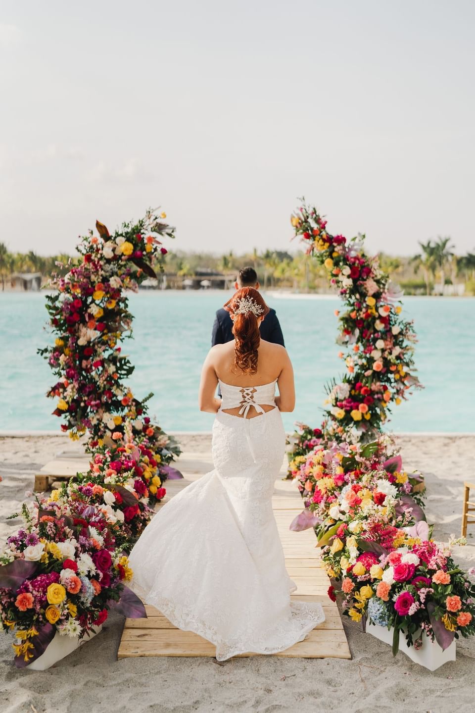
{"type": "MultiPolygon", "coordinates": [[[[213,468],[211,456],[207,453],[182,453],[177,466],[184,474],[184,479],[167,481],[164,503],[213,468]]],[[[276,481],[272,504],[286,558],[286,568],[298,587],[291,598],[320,602],[326,618],[323,624],[310,632],[305,641],[298,642],[276,656],[350,659],[348,641],[338,607],[327,595],[330,580],[320,567],[320,550],[315,548],[315,534],[313,530],[295,533],[288,529],[293,518],[301,512],[302,501],[295,483],[281,480],[284,474],[285,465],[276,481]]],[[[193,632],[177,629],[155,607],[147,605],[146,610],[147,619],[125,620],[118,658],[216,655],[216,649],[209,641],[193,632]]]]}

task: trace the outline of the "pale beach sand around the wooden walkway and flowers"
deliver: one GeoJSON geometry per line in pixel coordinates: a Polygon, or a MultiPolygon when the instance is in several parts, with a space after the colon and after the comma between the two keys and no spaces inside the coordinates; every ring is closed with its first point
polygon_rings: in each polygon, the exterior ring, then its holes
{"type": "MultiPolygon", "coordinates": [[[[459,536],[463,481],[475,481],[475,435],[402,436],[404,467],[426,476],[427,520],[434,538],[459,536]]],[[[207,434],[180,434],[185,451],[207,452],[207,434]]],[[[0,540],[19,527],[6,515],[33,488],[38,468],[69,445],[64,436],[0,438],[0,540]]],[[[475,565],[475,525],[469,544],[453,548],[464,568],[475,565]]],[[[210,658],[116,659],[123,618],[111,615],[103,632],[46,672],[19,671],[11,637],[0,635],[2,713],[470,711],[475,705],[475,641],[457,643],[456,662],[435,672],[343,620],[353,660],[250,657],[218,665],[210,658]]]]}

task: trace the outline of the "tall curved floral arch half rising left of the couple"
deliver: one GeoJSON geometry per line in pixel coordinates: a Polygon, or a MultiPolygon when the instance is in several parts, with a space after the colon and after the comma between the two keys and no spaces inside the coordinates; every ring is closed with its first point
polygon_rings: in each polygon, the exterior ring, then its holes
{"type": "Polygon", "coordinates": [[[99,236],[91,231],[78,246],[80,264],[66,277],[51,280],[50,287],[57,291],[47,295],[46,308],[56,339],[52,346],[38,349],[58,378],[48,396],[58,399],[53,414],[65,420],[61,429],[73,439],[87,430],[90,453],[104,446],[113,452],[132,442],[145,446],[153,467],[160,464],[160,485],[148,488],[156,501],[167,464],[180,450],[174,438],[146,415],[152,394],[139,401],[123,383],[134,367],[118,342],[132,336],[127,289],[136,292],[145,277],[155,277],[152,265],[163,269],[167,250],[157,236],[174,237],[165,217],[165,212],[157,216],[149,211],[113,235],[96,223],[99,236]]]}

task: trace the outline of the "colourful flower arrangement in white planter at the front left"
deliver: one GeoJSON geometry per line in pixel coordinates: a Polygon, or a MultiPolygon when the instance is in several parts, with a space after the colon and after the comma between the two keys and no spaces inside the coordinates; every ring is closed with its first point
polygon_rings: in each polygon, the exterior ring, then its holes
{"type": "Polygon", "coordinates": [[[22,515],[24,527],[0,555],[0,623],[16,632],[17,667],[41,656],[56,632],[84,637],[113,605],[146,616],[125,585],[132,571],[103,508],[88,498],[37,498],[22,515]]]}

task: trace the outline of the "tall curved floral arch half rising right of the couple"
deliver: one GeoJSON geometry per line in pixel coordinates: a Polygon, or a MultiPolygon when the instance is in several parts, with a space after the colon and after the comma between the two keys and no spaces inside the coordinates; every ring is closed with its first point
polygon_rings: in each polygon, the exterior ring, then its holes
{"type": "MultiPolygon", "coordinates": [[[[327,440],[371,441],[382,430],[392,404],[400,404],[412,386],[420,386],[414,376],[414,328],[400,317],[402,293],[381,270],[377,257],[366,255],[364,235],[349,242],[343,235],[331,235],[326,220],[305,202],[291,223],[344,302],[343,312],[335,314],[347,373],[326,389],[323,433],[327,440]]],[[[303,432],[298,440],[302,438],[303,432]]]]}

